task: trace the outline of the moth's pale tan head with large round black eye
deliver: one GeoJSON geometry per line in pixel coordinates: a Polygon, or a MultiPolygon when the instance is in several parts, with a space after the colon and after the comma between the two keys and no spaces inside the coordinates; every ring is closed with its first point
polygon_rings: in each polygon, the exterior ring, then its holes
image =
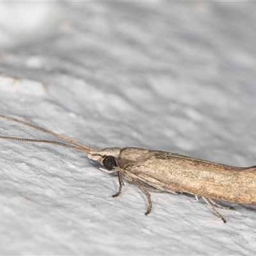
{"type": "Polygon", "coordinates": [[[88,153],[88,157],[95,161],[98,161],[107,170],[113,170],[117,167],[118,159],[120,157],[121,148],[103,148],[103,149],[92,149],[88,153]]]}

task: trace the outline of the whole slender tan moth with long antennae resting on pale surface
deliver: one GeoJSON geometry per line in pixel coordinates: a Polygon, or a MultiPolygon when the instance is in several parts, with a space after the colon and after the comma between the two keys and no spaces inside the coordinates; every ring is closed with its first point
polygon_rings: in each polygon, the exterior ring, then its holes
{"type": "Polygon", "coordinates": [[[148,190],[166,191],[173,194],[187,193],[195,195],[196,200],[201,197],[224,223],[227,221],[213,205],[222,209],[233,208],[219,204],[216,200],[236,204],[256,204],[256,166],[234,167],[145,148],[92,148],[37,125],[9,116],[0,115],[0,117],[47,132],[68,143],[6,136],[0,136],[1,139],[51,143],[72,148],[84,152],[90,159],[98,161],[104,166],[100,170],[117,173],[119,189],[113,197],[120,195],[124,179],[135,184],[147,197],[146,215],[152,208],[148,190]]]}

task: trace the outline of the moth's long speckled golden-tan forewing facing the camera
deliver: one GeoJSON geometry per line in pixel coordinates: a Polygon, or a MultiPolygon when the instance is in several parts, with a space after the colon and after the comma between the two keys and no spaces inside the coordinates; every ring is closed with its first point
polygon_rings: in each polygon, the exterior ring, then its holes
{"type": "Polygon", "coordinates": [[[129,168],[150,186],[236,204],[256,204],[256,168],[237,168],[148,150],[129,168]],[[249,172],[249,170],[252,170],[249,172]]]}

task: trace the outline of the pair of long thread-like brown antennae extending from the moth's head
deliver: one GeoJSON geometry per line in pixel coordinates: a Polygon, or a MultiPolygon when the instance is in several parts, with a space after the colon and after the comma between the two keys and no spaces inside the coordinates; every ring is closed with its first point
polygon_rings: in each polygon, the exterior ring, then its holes
{"type": "Polygon", "coordinates": [[[74,141],[74,140],[70,140],[69,138],[63,136],[63,135],[60,135],[58,133],[55,133],[55,132],[52,132],[52,131],[49,131],[45,128],[42,128],[42,127],[39,127],[35,124],[29,124],[27,122],[24,122],[24,121],[21,121],[19,119],[15,119],[15,118],[12,118],[12,117],[9,117],[9,116],[4,116],[4,115],[0,115],[1,118],[4,118],[6,120],[10,120],[10,121],[13,121],[13,122],[17,122],[19,124],[23,124],[23,125],[27,125],[27,126],[30,126],[30,127],[33,127],[34,129],[37,129],[37,130],[40,130],[40,131],[43,131],[43,132],[47,132],[49,134],[51,134],[52,136],[55,136],[57,138],[60,138],[61,140],[65,140],[65,141],[68,141],[69,143],[72,143],[73,145],[76,145],[77,147],[74,147],[72,145],[69,145],[69,144],[65,144],[65,143],[61,143],[61,142],[58,142],[58,141],[47,141],[47,140],[33,140],[33,139],[24,139],[24,138],[14,138],[14,137],[5,137],[5,136],[0,136],[0,138],[2,139],[6,139],[6,140],[20,140],[20,141],[31,141],[31,142],[44,142],[44,143],[51,143],[51,144],[55,144],[55,145],[62,145],[63,147],[68,147],[68,148],[74,148],[76,150],[79,150],[81,152],[85,152],[86,154],[88,154],[92,148],[88,147],[88,146],[85,146],[77,141],[74,141]],[[80,150],[81,148],[83,148],[83,150],[80,150]]]}

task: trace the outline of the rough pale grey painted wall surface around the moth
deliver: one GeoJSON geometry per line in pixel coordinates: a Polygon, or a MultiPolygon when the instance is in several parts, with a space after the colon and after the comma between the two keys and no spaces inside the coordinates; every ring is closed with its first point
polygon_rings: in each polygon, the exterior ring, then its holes
{"type": "MultiPolygon", "coordinates": [[[[256,164],[256,5],[0,3],[0,113],[92,147],[256,164]]],[[[55,140],[0,120],[1,136],[55,140]]],[[[141,191],[81,152],[1,140],[1,255],[253,255],[256,207],[141,191]]]]}

